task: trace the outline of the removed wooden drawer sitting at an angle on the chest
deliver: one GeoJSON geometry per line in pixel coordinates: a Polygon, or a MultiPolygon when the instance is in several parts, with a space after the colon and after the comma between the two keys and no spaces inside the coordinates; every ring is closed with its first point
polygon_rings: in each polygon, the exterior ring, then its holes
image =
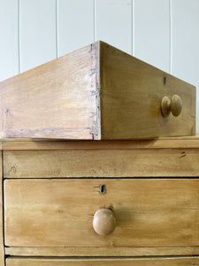
{"type": "Polygon", "coordinates": [[[195,87],[103,42],[0,82],[0,101],[0,137],[195,135],[195,87]]]}

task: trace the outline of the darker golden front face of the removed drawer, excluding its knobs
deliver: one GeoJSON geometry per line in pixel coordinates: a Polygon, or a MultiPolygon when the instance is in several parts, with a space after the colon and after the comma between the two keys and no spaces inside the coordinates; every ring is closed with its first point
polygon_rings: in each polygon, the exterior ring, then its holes
{"type": "Polygon", "coordinates": [[[107,43],[100,43],[102,139],[195,134],[195,87],[107,43]],[[161,99],[179,95],[178,117],[163,117],[161,99]]]}

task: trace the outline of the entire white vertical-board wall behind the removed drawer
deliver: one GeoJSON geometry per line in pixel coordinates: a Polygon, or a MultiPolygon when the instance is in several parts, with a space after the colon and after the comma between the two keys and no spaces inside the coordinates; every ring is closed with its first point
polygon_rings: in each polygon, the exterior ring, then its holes
{"type": "Polygon", "coordinates": [[[0,81],[103,40],[199,88],[199,0],[0,0],[0,36],[0,81]]]}

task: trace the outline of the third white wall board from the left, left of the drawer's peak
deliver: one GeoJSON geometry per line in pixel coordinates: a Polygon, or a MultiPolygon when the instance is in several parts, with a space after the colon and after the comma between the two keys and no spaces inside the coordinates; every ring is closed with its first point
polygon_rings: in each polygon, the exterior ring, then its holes
{"type": "Polygon", "coordinates": [[[58,56],[94,42],[94,0],[57,0],[58,56]]]}

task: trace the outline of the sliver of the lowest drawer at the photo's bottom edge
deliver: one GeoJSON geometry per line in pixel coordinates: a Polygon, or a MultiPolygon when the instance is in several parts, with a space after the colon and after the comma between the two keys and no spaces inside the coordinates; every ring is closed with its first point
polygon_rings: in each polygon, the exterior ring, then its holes
{"type": "Polygon", "coordinates": [[[148,258],[148,259],[37,259],[20,258],[6,260],[7,266],[92,266],[92,265],[114,265],[114,266],[193,266],[198,265],[197,257],[182,258],[148,258]]]}

